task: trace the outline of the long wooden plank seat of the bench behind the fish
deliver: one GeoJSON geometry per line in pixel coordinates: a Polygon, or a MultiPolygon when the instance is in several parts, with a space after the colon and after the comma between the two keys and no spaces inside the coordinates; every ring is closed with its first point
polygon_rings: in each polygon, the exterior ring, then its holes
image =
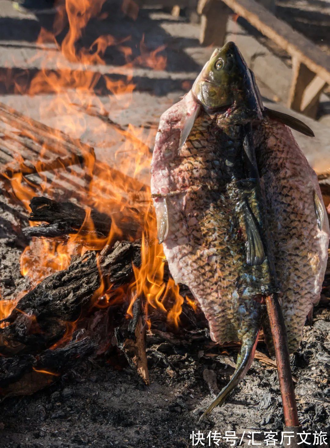
{"type": "MultiPolygon", "coordinates": [[[[220,1],[220,0],[219,0],[220,1]]],[[[262,34],[330,84],[330,56],[255,0],[221,0],[262,34]]]]}

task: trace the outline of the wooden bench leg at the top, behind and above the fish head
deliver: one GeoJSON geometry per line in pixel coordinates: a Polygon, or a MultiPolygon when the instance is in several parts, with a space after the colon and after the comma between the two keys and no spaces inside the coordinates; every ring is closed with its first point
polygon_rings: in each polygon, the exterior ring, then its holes
{"type": "Polygon", "coordinates": [[[222,47],[225,43],[230,9],[219,0],[199,0],[197,12],[201,14],[201,45],[222,47]]]}

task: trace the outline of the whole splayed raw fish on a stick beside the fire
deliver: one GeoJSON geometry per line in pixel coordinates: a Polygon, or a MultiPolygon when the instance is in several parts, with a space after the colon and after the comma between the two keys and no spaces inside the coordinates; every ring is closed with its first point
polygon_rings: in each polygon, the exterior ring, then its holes
{"type": "Polygon", "coordinates": [[[281,297],[290,352],[320,298],[329,222],[316,174],[287,126],[313,136],[263,107],[232,42],[214,51],[192,90],[160,119],[151,164],[159,243],[212,340],[241,343],[235,373],[206,413],[244,377],[261,327],[273,353],[265,297],[281,297]]]}

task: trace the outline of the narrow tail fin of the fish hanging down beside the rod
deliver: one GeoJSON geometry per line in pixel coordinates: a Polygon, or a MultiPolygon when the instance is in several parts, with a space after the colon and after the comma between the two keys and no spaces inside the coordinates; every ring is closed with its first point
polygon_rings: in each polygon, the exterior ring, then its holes
{"type": "Polygon", "coordinates": [[[259,331],[256,332],[255,340],[253,344],[251,344],[251,341],[242,343],[242,347],[240,349],[240,353],[237,356],[237,362],[236,362],[236,370],[234,372],[234,375],[231,377],[231,380],[225,386],[222,391],[219,393],[218,396],[214,398],[214,400],[211,402],[210,406],[206,409],[204,414],[201,415],[201,418],[199,419],[199,422],[207,415],[210,414],[213,409],[216,406],[223,405],[223,402],[227,398],[227,396],[230,394],[230,392],[240,383],[240,381],[244,378],[246,372],[251,367],[251,364],[254,359],[254,354],[256,353],[256,347],[258,342],[258,336],[259,331]]]}

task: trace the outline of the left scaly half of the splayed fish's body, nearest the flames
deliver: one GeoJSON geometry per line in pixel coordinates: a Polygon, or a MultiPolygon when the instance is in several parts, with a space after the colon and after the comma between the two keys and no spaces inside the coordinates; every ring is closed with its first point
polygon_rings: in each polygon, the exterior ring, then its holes
{"type": "Polygon", "coordinates": [[[219,343],[252,340],[268,293],[267,261],[247,266],[236,211],[240,176],[238,127],[223,132],[201,115],[167,170],[169,230],[164,253],[176,283],[186,284],[219,343]]]}

